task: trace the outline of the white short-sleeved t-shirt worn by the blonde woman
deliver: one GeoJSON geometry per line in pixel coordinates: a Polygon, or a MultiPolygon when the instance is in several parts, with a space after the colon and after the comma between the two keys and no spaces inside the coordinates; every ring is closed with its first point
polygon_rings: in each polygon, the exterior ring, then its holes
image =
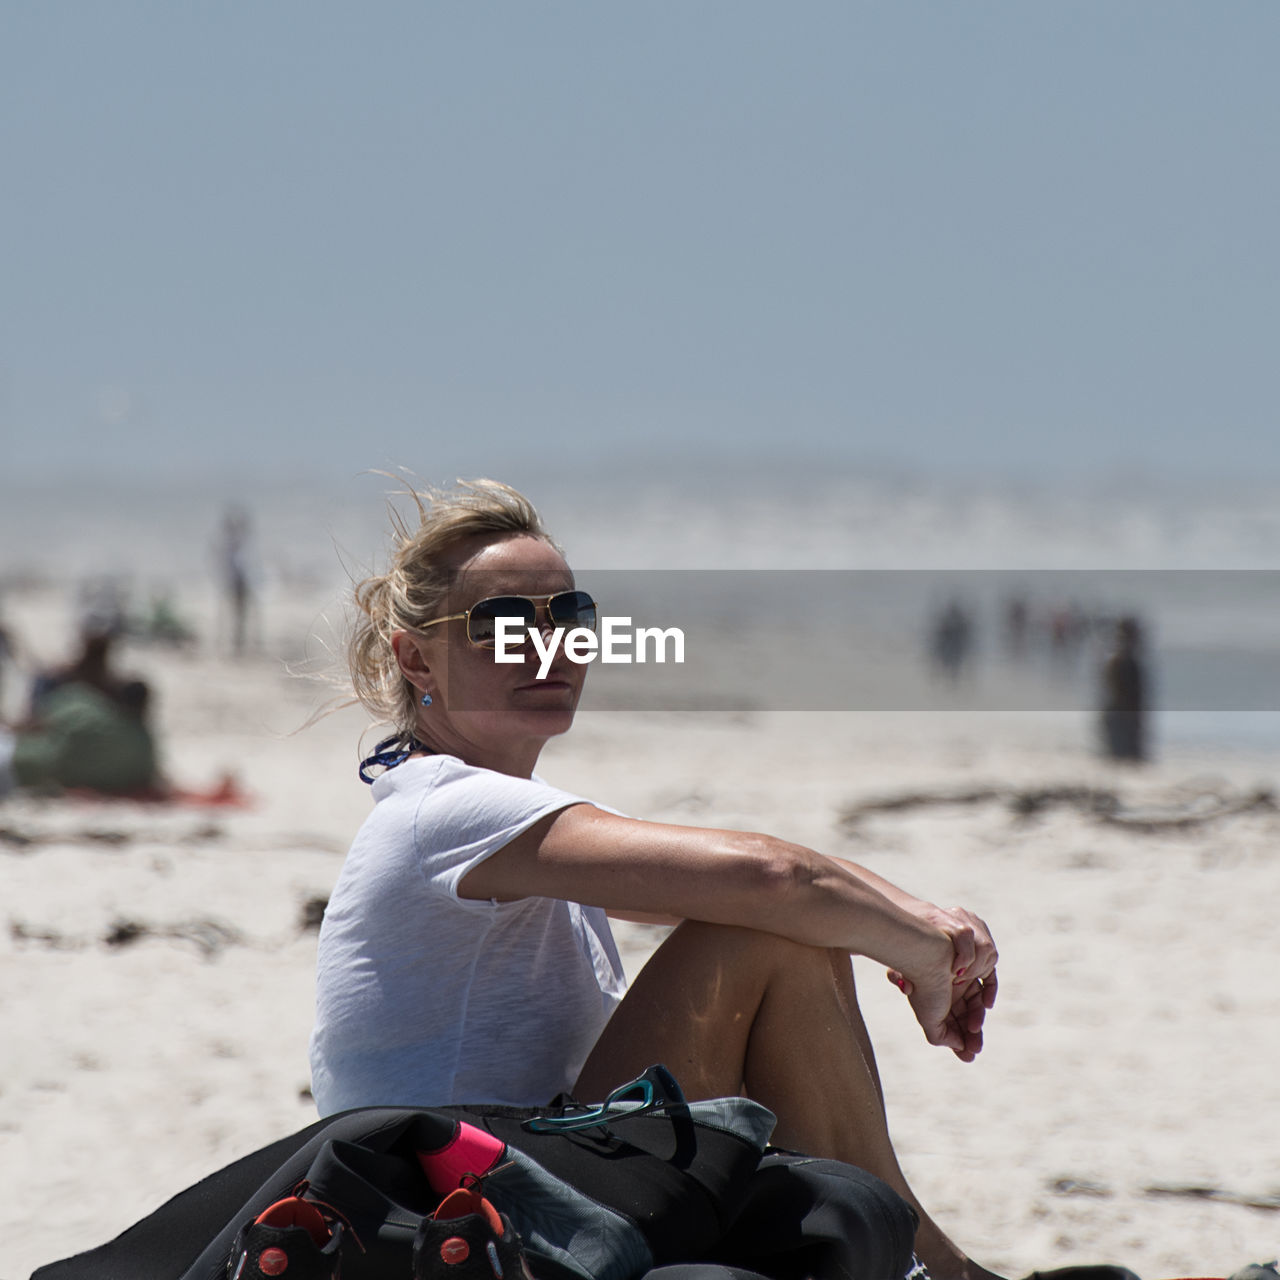
{"type": "Polygon", "coordinates": [[[320,929],[311,1088],[364,1106],[541,1106],[571,1089],[626,989],[608,916],[458,896],[539,818],[586,803],[429,755],[374,782],[320,929]]]}

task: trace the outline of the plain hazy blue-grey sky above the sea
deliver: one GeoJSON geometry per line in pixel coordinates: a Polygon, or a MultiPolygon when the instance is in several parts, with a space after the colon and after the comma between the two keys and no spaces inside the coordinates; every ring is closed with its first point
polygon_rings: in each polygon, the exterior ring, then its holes
{"type": "Polygon", "coordinates": [[[0,3],[0,471],[1280,468],[1280,5],[0,3]]]}

